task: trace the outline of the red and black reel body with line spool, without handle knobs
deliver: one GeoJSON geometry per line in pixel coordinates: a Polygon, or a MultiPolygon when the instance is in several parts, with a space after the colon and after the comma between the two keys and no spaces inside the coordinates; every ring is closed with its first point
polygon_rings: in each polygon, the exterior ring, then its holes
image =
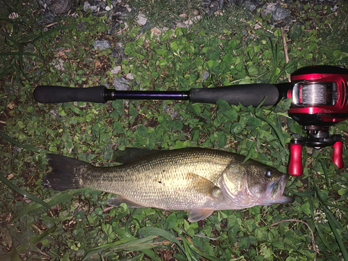
{"type": "Polygon", "coordinates": [[[331,126],[348,118],[348,70],[317,65],[296,70],[289,115],[300,125],[331,126]]]}

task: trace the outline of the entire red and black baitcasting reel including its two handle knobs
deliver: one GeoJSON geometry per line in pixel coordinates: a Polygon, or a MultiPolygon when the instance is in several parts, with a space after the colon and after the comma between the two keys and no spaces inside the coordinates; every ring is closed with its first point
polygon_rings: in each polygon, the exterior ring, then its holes
{"type": "Polygon", "coordinates": [[[307,137],[293,135],[287,172],[302,175],[302,145],[314,148],[333,146],[333,162],[343,167],[342,136],[329,135],[329,126],[348,118],[348,70],[316,65],[292,73],[294,86],[287,90],[292,99],[289,116],[303,125],[307,137]]]}

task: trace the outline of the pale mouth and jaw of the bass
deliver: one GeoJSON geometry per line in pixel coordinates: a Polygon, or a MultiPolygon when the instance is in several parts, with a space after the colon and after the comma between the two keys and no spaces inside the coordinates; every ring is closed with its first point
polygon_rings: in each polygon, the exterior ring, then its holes
{"type": "Polygon", "coordinates": [[[259,203],[262,203],[264,205],[293,203],[294,198],[283,195],[288,178],[289,175],[283,174],[278,177],[277,180],[271,182],[266,192],[264,193],[264,197],[260,199],[259,203]]]}

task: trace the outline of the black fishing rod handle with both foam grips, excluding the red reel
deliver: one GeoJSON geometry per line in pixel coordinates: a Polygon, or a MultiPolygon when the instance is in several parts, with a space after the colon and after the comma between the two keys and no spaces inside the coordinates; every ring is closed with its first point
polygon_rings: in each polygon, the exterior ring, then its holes
{"type": "Polygon", "coordinates": [[[290,88],[292,84],[244,84],[216,88],[191,88],[183,91],[114,90],[104,86],[70,88],[63,86],[37,86],[34,97],[40,103],[97,102],[113,100],[189,100],[191,102],[216,103],[219,98],[229,104],[258,106],[274,105],[281,99],[278,89],[290,88]],[[278,87],[277,87],[278,86],[278,87]],[[283,86],[283,87],[282,87],[283,86]],[[253,95],[246,95],[253,93],[253,95]]]}

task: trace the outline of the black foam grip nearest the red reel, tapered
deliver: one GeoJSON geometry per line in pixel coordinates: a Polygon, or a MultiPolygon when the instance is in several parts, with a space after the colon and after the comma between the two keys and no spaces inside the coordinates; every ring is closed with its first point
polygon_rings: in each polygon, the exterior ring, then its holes
{"type": "Polygon", "coordinates": [[[229,104],[243,106],[258,106],[267,97],[263,106],[274,105],[278,102],[279,92],[273,84],[242,84],[217,88],[193,88],[190,90],[191,102],[216,103],[221,98],[229,104]]]}

